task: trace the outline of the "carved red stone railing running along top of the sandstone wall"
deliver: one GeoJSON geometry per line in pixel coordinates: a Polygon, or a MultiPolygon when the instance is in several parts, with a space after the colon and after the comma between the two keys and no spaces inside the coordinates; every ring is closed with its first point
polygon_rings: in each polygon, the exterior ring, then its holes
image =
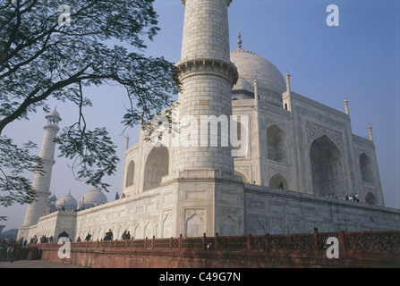
{"type": "MultiPolygon", "coordinates": [[[[282,234],[259,236],[218,236],[198,238],[102,240],[72,242],[71,248],[79,249],[124,249],[124,250],[204,250],[204,251],[266,251],[266,252],[312,252],[325,253],[330,245],[328,238],[339,241],[342,254],[398,254],[400,257],[400,231],[369,232],[325,232],[314,229],[309,234],[282,234]]],[[[59,248],[57,243],[28,245],[36,248],[59,248]]]]}

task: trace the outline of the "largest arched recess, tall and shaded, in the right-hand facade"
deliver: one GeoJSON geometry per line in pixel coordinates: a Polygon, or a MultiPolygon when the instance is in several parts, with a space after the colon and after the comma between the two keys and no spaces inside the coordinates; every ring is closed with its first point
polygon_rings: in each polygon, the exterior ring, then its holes
{"type": "Polygon", "coordinates": [[[312,188],[321,196],[346,195],[342,155],[327,136],[315,139],[310,148],[312,188]]]}

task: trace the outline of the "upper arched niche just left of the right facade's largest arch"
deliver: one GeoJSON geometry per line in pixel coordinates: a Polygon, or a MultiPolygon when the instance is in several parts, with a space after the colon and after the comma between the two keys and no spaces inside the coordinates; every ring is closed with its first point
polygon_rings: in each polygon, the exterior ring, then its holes
{"type": "Polygon", "coordinates": [[[267,130],[268,160],[286,162],[285,134],[277,125],[267,130]]]}

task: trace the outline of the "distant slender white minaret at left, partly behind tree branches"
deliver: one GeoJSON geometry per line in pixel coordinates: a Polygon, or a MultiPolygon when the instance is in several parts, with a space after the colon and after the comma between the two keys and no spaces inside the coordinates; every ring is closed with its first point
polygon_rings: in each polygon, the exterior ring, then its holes
{"type": "Polygon", "coordinates": [[[23,226],[31,226],[38,223],[38,219],[47,208],[47,198],[50,196],[51,171],[55,164],[55,137],[60,130],[58,122],[61,122],[60,114],[56,110],[46,116],[47,124],[44,126],[45,136],[40,149],[42,160],[42,172],[36,173],[32,187],[36,193],[36,201],[28,206],[23,226]]]}

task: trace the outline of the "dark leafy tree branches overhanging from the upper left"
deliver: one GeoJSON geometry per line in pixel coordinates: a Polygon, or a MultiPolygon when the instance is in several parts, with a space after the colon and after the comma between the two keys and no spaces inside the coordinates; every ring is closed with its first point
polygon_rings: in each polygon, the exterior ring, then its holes
{"type": "MultiPolygon", "coordinates": [[[[28,119],[38,108],[48,112],[49,97],[71,101],[77,105],[79,117],[57,140],[62,155],[73,158],[73,167],[81,167],[77,178],[106,188],[101,181],[104,175],[115,172],[115,146],[106,130],[86,129],[82,107],[91,105],[96,97],[84,97],[82,87],[123,86],[131,103],[122,115],[126,128],[150,120],[172,104],[172,95],[179,88],[174,64],[162,57],[140,54],[146,48],[145,40],[153,39],[159,29],[153,2],[1,1],[0,135],[5,126],[14,120],[28,119]],[[66,20],[63,12],[58,12],[61,4],[70,7],[70,25],[59,23],[66,20]],[[115,40],[124,46],[110,45],[115,40]]],[[[4,150],[6,144],[11,143],[2,141],[4,150]]],[[[0,167],[5,168],[4,161],[1,163],[0,167]]],[[[21,166],[28,167],[24,163],[21,166]]],[[[27,191],[28,181],[17,184],[14,179],[17,192],[27,191]]]]}

